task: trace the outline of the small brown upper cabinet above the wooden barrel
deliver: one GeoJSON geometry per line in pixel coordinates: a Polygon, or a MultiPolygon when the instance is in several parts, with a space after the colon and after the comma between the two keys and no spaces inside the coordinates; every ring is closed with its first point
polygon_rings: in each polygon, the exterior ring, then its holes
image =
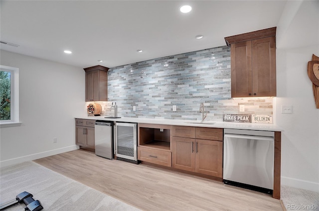
{"type": "Polygon", "coordinates": [[[108,100],[108,70],[97,65],[85,70],[85,101],[108,100]]]}

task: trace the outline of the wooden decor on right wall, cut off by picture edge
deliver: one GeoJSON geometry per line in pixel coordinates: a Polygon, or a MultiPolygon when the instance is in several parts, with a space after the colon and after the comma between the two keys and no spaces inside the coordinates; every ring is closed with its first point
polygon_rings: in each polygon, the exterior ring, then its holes
{"type": "Polygon", "coordinates": [[[319,57],[313,54],[312,61],[308,62],[308,76],[313,82],[316,107],[319,108],[319,57]]]}

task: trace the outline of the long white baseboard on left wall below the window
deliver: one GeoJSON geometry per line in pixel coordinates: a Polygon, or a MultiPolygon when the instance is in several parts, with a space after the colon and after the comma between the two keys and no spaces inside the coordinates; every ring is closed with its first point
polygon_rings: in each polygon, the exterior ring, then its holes
{"type": "Polygon", "coordinates": [[[35,153],[35,154],[29,154],[29,155],[25,155],[22,157],[16,157],[16,158],[8,159],[8,160],[2,160],[2,161],[0,161],[0,166],[5,167],[5,166],[9,166],[9,165],[14,165],[14,164],[22,163],[25,161],[35,160],[35,159],[39,159],[42,157],[47,157],[47,156],[51,156],[51,155],[55,155],[55,154],[59,154],[59,153],[67,152],[67,151],[72,151],[72,150],[75,150],[78,148],[79,148],[79,146],[72,145],[72,146],[53,149],[53,150],[49,150],[49,151],[39,152],[39,153],[35,153]]]}

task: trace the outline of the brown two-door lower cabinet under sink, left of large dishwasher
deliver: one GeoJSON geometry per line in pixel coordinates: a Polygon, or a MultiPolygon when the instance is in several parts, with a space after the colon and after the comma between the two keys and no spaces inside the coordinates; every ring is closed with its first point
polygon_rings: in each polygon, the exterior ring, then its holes
{"type": "Polygon", "coordinates": [[[171,140],[172,167],[222,178],[222,136],[223,129],[174,127],[171,140]],[[179,133],[180,131],[194,131],[194,133],[179,133]],[[198,139],[203,137],[203,133],[214,134],[205,138],[217,141],[198,139]]]}

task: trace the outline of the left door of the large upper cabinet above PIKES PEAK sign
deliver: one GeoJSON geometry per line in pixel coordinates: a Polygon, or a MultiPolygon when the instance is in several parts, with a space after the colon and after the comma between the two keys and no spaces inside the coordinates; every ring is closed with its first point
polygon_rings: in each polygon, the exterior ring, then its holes
{"type": "Polygon", "coordinates": [[[230,45],[231,96],[252,96],[252,52],[251,41],[230,45]]]}

